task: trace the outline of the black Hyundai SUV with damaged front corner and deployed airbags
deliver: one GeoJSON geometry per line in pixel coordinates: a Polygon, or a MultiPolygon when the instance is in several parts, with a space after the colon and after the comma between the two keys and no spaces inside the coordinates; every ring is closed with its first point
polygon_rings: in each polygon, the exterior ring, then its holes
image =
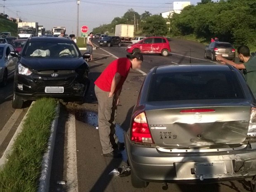
{"type": "Polygon", "coordinates": [[[14,76],[12,107],[22,108],[24,101],[40,97],[56,97],[81,101],[88,90],[89,66],[76,43],[69,38],[33,37],[18,57],[14,76]]]}

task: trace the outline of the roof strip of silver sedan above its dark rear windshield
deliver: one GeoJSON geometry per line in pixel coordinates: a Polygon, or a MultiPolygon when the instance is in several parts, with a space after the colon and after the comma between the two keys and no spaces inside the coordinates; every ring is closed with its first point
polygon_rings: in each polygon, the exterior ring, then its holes
{"type": "Polygon", "coordinates": [[[230,71],[229,65],[200,63],[200,64],[180,64],[180,65],[164,65],[156,67],[156,74],[188,72],[188,71],[230,71]]]}

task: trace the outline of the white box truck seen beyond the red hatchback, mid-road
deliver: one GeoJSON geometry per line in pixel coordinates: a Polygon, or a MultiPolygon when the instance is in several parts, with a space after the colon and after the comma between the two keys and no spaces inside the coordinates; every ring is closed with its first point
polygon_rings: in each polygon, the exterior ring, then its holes
{"type": "Polygon", "coordinates": [[[119,36],[122,41],[130,42],[134,36],[134,25],[116,25],[115,36],[119,36]]]}

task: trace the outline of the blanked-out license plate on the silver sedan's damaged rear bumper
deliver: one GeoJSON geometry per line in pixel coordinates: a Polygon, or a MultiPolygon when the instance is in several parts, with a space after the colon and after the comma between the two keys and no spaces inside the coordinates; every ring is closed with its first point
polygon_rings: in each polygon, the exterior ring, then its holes
{"type": "Polygon", "coordinates": [[[226,168],[224,162],[199,163],[194,165],[196,175],[225,175],[226,168]]]}

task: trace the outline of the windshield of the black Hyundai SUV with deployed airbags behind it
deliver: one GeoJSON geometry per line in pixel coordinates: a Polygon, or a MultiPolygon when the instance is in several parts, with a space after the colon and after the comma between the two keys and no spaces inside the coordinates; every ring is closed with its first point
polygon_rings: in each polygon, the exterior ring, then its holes
{"type": "Polygon", "coordinates": [[[73,43],[52,43],[36,41],[28,43],[24,57],[78,57],[79,53],[73,43]]]}

